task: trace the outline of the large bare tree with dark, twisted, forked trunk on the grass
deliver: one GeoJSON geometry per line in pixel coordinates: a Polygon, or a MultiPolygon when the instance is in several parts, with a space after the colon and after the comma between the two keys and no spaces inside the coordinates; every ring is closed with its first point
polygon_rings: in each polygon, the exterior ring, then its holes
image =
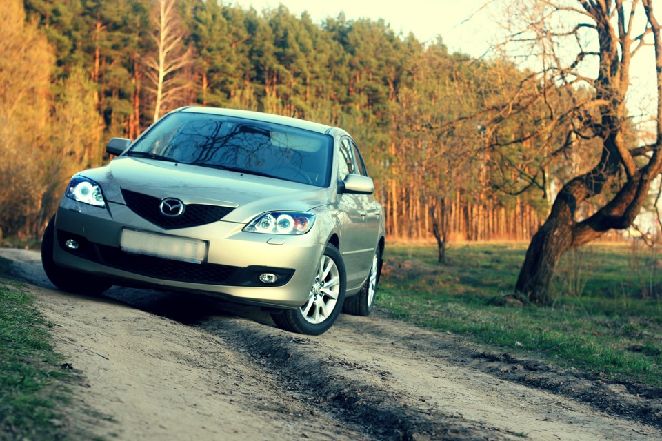
{"type": "MultiPolygon", "coordinates": [[[[563,253],[609,229],[632,225],[662,171],[662,43],[652,3],[538,0],[511,4],[516,10],[510,11],[510,17],[519,19],[520,27],[512,32],[510,43],[527,48],[528,52],[519,53],[535,57],[542,68],[530,74],[510,102],[492,109],[491,123],[498,126],[516,114],[534,119],[537,130],[509,143],[541,145],[545,152],[539,161],[541,172],[567,156],[568,150],[595,158],[590,170],[561,187],[547,220],[531,240],[516,291],[532,302],[550,302],[550,283],[563,253]],[[625,102],[635,55],[654,57],[656,65],[656,107],[648,121],[653,135],[639,143],[625,102]],[[581,212],[583,205],[596,199],[603,203],[590,216],[581,212]]],[[[519,179],[540,185],[540,175],[520,174],[519,179]]]]}

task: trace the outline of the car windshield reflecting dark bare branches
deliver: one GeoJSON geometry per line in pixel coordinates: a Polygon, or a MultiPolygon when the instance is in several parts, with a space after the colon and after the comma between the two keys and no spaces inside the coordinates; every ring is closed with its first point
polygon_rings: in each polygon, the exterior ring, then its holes
{"type": "Polygon", "coordinates": [[[327,187],[333,139],[286,125],[194,112],[175,112],[128,152],[327,187]]]}

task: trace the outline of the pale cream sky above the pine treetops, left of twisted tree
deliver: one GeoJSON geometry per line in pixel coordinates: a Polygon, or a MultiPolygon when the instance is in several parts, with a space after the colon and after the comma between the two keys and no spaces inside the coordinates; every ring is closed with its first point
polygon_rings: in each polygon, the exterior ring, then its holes
{"type": "Polygon", "coordinates": [[[419,41],[428,41],[441,35],[450,52],[464,52],[480,57],[489,47],[490,39],[498,28],[489,13],[480,10],[489,0],[230,0],[242,8],[252,6],[261,12],[264,8],[277,8],[279,3],[299,17],[308,11],[314,23],[326,17],[345,13],[348,20],[383,19],[394,32],[407,35],[413,32],[419,41]],[[475,16],[463,23],[466,19],[475,16]]]}

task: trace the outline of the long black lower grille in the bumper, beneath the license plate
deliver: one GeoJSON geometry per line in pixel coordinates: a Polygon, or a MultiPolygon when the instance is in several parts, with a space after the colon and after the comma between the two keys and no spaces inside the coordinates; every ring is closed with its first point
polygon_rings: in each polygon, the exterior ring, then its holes
{"type": "Polygon", "coordinates": [[[97,245],[100,263],[143,276],[179,282],[228,285],[241,271],[240,267],[216,265],[214,263],[188,263],[179,260],[143,256],[121,251],[121,249],[97,245]]]}

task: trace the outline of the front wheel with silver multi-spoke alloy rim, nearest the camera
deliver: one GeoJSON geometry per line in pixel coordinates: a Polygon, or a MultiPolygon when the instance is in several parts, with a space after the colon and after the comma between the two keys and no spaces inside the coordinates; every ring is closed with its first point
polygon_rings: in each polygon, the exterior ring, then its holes
{"type": "Polygon", "coordinates": [[[340,252],[333,245],[327,245],[317,266],[317,276],[312,280],[308,301],[297,309],[272,314],[276,326],[298,334],[323,334],[340,315],[346,279],[340,252]]]}

